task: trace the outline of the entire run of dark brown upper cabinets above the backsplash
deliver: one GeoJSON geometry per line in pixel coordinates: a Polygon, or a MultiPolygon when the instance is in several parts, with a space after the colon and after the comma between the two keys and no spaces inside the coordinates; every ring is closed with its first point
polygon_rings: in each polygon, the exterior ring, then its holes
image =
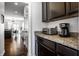
{"type": "Polygon", "coordinates": [[[78,14],[78,5],[78,2],[43,2],[42,19],[49,22],[71,17],[71,14],[78,14]]]}

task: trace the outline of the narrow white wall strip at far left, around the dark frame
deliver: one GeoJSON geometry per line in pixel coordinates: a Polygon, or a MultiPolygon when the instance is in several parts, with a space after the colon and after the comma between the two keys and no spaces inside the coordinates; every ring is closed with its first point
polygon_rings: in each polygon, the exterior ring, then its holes
{"type": "MultiPolygon", "coordinates": [[[[0,15],[4,14],[4,3],[0,2],[0,15]]],[[[1,16],[0,16],[1,20],[1,16]]],[[[0,22],[0,56],[4,54],[4,24],[0,22]]]]}

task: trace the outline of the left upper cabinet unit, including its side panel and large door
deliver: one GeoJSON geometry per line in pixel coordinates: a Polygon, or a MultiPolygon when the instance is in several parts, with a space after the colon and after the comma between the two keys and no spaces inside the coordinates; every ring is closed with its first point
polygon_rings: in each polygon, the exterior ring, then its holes
{"type": "Polygon", "coordinates": [[[43,21],[50,21],[51,19],[65,15],[64,2],[43,2],[42,3],[42,19],[43,21]]]}

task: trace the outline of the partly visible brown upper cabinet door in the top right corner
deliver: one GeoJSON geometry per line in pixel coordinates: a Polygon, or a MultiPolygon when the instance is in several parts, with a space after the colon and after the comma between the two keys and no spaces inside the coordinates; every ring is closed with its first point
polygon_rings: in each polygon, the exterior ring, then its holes
{"type": "Polygon", "coordinates": [[[67,7],[67,13],[68,14],[73,14],[73,13],[78,13],[78,2],[67,2],[66,7],[67,7]]]}

